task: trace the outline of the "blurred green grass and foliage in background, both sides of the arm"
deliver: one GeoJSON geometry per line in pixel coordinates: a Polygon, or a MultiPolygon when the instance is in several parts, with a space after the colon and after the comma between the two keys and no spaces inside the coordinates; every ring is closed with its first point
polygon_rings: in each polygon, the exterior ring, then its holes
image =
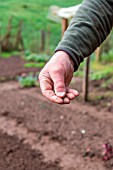
{"type": "MultiPolygon", "coordinates": [[[[15,50],[4,52],[2,57],[22,55],[27,61],[25,67],[43,67],[61,39],[61,23],[47,18],[50,6],[70,7],[81,2],[82,0],[0,0],[0,38],[2,39],[7,33],[8,20],[12,17],[12,41],[17,34],[17,26],[22,21],[22,38],[25,48],[22,53],[15,50]],[[46,50],[43,53],[40,52],[42,30],[47,32],[46,50]]],[[[92,54],[91,61],[92,80],[102,79],[113,73],[113,32],[102,44],[99,61],[95,61],[95,53],[92,54]]],[[[84,63],[75,73],[76,76],[83,76],[83,67],[84,63]]]]}

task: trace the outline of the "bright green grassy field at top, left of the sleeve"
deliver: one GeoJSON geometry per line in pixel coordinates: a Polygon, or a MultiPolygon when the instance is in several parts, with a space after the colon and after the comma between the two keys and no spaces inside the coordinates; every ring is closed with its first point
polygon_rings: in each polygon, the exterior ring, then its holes
{"type": "MultiPolygon", "coordinates": [[[[80,3],[82,0],[0,0],[0,34],[6,32],[7,22],[13,17],[13,26],[23,20],[23,38],[26,49],[40,49],[40,30],[51,31],[50,50],[54,50],[61,38],[61,25],[47,19],[48,10],[51,5],[69,7],[80,3]]],[[[14,27],[12,34],[16,34],[14,27]]]]}

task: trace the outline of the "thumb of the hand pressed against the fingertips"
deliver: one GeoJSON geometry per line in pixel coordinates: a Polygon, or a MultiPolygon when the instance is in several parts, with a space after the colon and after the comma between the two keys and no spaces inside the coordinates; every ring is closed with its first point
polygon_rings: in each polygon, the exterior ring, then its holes
{"type": "Polygon", "coordinates": [[[56,71],[51,75],[52,81],[54,83],[54,91],[58,97],[63,98],[66,94],[66,87],[64,82],[63,71],[56,71]]]}

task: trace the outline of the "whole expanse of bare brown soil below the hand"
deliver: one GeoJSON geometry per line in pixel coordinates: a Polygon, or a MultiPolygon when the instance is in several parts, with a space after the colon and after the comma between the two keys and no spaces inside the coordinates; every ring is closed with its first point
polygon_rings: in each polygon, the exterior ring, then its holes
{"type": "MultiPolygon", "coordinates": [[[[71,86],[75,81],[81,92],[82,80],[73,79],[71,86]]],[[[81,94],[59,106],[39,88],[0,83],[0,170],[112,170],[113,156],[103,160],[103,144],[113,147],[113,98],[106,93],[90,82],[90,102],[81,94]]]]}

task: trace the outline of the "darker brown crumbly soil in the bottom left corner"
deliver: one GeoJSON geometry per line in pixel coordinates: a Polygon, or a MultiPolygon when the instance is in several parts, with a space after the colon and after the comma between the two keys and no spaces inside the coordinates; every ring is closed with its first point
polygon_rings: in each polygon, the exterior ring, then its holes
{"type": "Polygon", "coordinates": [[[61,170],[56,163],[43,162],[40,151],[15,137],[0,133],[0,170],[61,170]]]}

